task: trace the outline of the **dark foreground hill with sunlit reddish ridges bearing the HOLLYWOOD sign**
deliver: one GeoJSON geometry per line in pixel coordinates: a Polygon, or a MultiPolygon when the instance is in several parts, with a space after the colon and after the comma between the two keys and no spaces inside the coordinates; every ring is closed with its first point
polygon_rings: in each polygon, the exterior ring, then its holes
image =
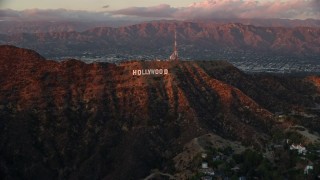
{"type": "MultiPolygon", "coordinates": [[[[0,46],[0,63],[1,179],[175,174],[194,138],[212,133],[262,150],[274,129],[290,125],[276,112],[319,103],[319,77],[248,75],[223,61],[58,63],[0,46]],[[169,73],[132,75],[153,68],[169,73]]],[[[299,123],[320,130],[318,120],[299,123]]]]}

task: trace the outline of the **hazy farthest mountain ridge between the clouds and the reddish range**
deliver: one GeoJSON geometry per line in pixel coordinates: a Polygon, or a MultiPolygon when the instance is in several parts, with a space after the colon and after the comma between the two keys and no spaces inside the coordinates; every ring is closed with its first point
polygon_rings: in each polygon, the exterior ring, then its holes
{"type": "MultiPolygon", "coordinates": [[[[159,20],[166,22],[165,20],[159,20]]],[[[156,21],[155,21],[156,22],[156,21]]],[[[241,23],[244,25],[262,26],[262,27],[320,27],[320,20],[290,20],[290,19],[194,19],[186,22],[211,23],[211,24],[230,24],[241,23]]],[[[141,21],[120,20],[105,22],[86,22],[86,21],[0,21],[0,34],[17,33],[46,33],[46,32],[64,32],[64,31],[85,31],[95,27],[120,27],[141,23],[141,21]]]]}

